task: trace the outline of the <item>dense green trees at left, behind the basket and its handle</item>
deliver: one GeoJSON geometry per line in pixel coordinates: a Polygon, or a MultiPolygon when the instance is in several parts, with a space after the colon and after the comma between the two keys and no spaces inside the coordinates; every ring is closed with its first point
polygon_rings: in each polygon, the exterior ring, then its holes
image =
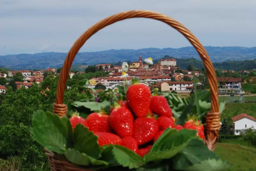
{"type": "MultiPolygon", "coordinates": [[[[46,91],[34,84],[30,89],[8,89],[0,105],[0,165],[8,164],[6,159],[15,157],[20,161],[21,171],[49,170],[49,164],[44,154],[43,147],[32,139],[32,114],[38,109],[52,111],[52,104],[56,97],[58,79],[50,82],[51,89],[46,91]],[[41,91],[44,91],[45,95],[41,91]]],[[[64,103],[70,100],[91,98],[89,89],[80,93],[76,88],[66,89],[64,103]]]]}

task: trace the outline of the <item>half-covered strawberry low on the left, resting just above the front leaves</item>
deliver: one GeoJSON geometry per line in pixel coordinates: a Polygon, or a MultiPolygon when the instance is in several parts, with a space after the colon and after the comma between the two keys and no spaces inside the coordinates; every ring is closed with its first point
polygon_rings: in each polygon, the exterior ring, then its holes
{"type": "Polygon", "coordinates": [[[122,139],[119,136],[109,132],[94,132],[94,135],[99,137],[98,143],[100,146],[108,144],[122,144],[122,139]]]}

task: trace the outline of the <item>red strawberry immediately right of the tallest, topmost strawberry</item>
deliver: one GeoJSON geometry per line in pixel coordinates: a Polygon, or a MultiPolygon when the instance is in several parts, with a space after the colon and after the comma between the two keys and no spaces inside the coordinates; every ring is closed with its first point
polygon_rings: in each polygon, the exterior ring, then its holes
{"type": "Polygon", "coordinates": [[[172,109],[164,96],[152,96],[150,109],[159,116],[172,117],[172,109]]]}

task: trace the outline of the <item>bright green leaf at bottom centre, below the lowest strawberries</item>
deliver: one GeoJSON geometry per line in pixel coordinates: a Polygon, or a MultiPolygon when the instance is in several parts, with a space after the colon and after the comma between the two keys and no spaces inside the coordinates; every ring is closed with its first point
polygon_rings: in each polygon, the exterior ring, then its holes
{"type": "Polygon", "coordinates": [[[143,159],[132,150],[120,145],[112,146],[112,152],[116,161],[123,167],[129,167],[129,169],[132,169],[143,165],[143,159]]]}

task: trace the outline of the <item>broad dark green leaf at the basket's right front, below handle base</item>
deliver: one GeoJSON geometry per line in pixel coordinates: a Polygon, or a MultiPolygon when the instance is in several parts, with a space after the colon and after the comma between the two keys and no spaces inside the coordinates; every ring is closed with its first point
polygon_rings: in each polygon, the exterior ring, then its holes
{"type": "Polygon", "coordinates": [[[204,142],[198,138],[191,139],[188,145],[172,158],[175,170],[184,170],[194,164],[207,159],[219,159],[214,152],[210,151],[204,142]]]}

